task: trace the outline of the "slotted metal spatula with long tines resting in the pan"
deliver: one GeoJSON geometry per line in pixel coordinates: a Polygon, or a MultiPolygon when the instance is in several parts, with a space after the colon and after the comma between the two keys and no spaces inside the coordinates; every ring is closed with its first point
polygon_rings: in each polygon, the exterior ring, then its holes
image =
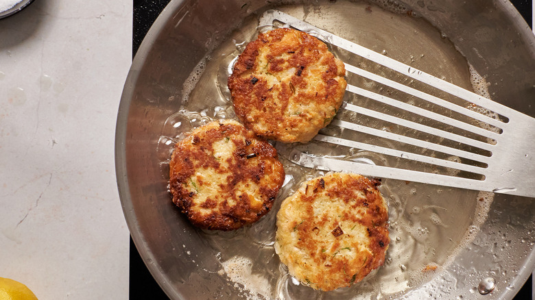
{"type": "Polygon", "coordinates": [[[535,118],[283,12],[269,10],[260,18],[261,26],[277,22],[317,36],[350,55],[358,55],[359,60],[366,61],[359,66],[372,63],[390,69],[376,75],[346,62],[348,74],[353,73],[351,76],[357,75],[368,83],[357,87],[348,79],[346,90],[355,94],[353,99],[357,101],[353,102],[366,105],[344,103],[343,110],[337,113],[331,125],[322,129],[313,143],[319,147],[379,153],[399,162],[394,166],[375,162],[366,164],[362,162],[371,160],[350,155],[320,155],[309,151],[311,147],[307,145],[278,143],[276,147],[281,155],[301,166],[326,171],[352,171],[372,177],[535,197],[535,118]],[[395,81],[387,78],[389,74],[410,77],[411,80],[395,81]],[[418,84],[412,84],[413,79],[418,84]],[[370,85],[370,82],[374,84],[370,85]],[[383,86],[379,90],[387,92],[366,89],[368,86],[383,86]],[[433,92],[414,86],[429,86],[433,92]],[[396,90],[393,94],[398,99],[390,97],[392,90],[396,90]],[[354,122],[362,118],[368,123],[354,122]],[[371,123],[388,126],[372,126],[371,123]],[[397,130],[388,130],[389,126],[397,130]],[[367,138],[355,139],[359,134],[367,138]],[[386,142],[376,143],[375,140],[386,142]]]}

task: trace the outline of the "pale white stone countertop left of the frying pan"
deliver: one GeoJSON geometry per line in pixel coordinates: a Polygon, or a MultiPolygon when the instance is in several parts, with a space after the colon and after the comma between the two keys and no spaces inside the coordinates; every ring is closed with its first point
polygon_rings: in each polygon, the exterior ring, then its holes
{"type": "Polygon", "coordinates": [[[128,299],[114,139],[131,53],[131,0],[0,20],[0,277],[39,299],[128,299]]]}

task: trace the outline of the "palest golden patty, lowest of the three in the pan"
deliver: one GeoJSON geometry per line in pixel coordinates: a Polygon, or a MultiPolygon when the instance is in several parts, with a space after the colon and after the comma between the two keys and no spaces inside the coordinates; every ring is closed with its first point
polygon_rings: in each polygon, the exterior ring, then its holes
{"type": "Polygon", "coordinates": [[[314,289],[361,281],[385,261],[388,207],[379,182],[328,173],[305,182],[277,213],[275,251],[290,275],[314,289]]]}

